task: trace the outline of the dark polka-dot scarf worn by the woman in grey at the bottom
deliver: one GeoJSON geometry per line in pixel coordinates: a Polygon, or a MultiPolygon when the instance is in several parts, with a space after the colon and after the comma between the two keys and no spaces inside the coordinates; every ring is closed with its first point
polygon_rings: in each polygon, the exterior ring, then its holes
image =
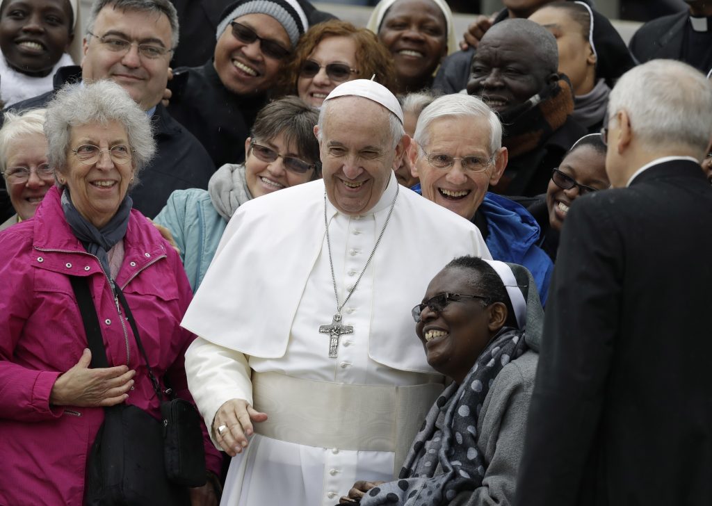
{"type": "Polygon", "coordinates": [[[448,504],[460,492],[480,487],[487,471],[477,450],[480,409],[499,371],[527,349],[523,332],[509,327],[500,330],[462,384],[450,384],[431,407],[399,480],[372,488],[361,504],[439,506],[448,504]],[[442,474],[435,475],[438,467],[442,474]]]}

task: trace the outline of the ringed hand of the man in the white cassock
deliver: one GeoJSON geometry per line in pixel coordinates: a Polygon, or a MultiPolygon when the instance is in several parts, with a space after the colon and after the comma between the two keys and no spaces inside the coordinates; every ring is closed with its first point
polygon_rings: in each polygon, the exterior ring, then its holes
{"type": "Polygon", "coordinates": [[[247,447],[247,438],[252,436],[252,422],[267,419],[266,413],[260,413],[244,399],[230,399],[215,413],[213,430],[215,439],[221,448],[234,457],[247,447]]]}

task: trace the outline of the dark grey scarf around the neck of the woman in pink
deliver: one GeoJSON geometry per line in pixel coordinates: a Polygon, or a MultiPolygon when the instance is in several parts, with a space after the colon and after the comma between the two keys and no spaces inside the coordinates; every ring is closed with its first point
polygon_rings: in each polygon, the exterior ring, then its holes
{"type": "Polygon", "coordinates": [[[116,214],[111,217],[109,223],[99,230],[77,211],[77,208],[72,203],[69,189],[65,188],[62,192],[62,210],[64,211],[64,218],[72,229],[72,233],[83,244],[87,253],[99,259],[104,272],[110,280],[112,278],[109,267],[109,250],[126,235],[132,205],[131,197],[126,195],[116,214]]]}

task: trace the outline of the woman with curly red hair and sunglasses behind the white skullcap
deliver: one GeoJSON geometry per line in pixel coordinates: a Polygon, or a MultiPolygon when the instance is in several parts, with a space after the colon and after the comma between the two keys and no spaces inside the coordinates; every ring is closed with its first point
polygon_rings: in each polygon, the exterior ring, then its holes
{"type": "Polygon", "coordinates": [[[299,95],[321,107],[337,85],[373,75],[394,89],[395,69],[387,49],[365,28],[334,19],[313,26],[300,39],[283,73],[281,94],[299,95]]]}

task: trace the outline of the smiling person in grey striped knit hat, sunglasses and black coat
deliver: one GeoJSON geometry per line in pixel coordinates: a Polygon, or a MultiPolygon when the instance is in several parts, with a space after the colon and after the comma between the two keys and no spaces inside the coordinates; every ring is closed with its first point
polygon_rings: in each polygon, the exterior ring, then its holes
{"type": "Polygon", "coordinates": [[[220,17],[213,58],[175,70],[182,84],[168,110],[203,143],[215,167],[244,160],[267,92],[308,26],[296,0],[239,0],[220,17]]]}

